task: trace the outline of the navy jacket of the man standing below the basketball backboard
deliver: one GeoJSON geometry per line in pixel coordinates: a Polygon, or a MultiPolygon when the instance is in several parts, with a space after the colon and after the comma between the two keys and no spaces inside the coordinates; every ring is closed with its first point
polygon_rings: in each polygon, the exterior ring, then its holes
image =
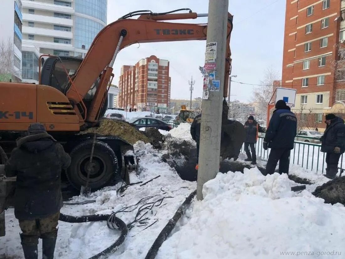
{"type": "Polygon", "coordinates": [[[269,148],[294,148],[297,118],[289,109],[276,109],[269,121],[264,142],[269,148]]]}

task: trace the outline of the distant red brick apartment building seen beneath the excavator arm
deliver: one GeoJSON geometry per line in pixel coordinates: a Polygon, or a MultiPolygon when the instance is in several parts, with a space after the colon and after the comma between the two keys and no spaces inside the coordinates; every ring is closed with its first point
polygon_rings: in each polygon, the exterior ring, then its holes
{"type": "Polygon", "coordinates": [[[148,110],[170,105],[169,61],[150,56],[134,66],[122,66],[119,79],[118,106],[124,109],[148,110]]]}

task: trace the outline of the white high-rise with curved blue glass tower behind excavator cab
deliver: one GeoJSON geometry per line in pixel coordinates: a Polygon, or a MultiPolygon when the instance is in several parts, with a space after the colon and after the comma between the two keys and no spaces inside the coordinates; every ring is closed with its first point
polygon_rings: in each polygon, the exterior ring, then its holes
{"type": "Polygon", "coordinates": [[[107,24],[107,0],[21,1],[25,82],[38,82],[40,54],[84,57],[107,24]]]}

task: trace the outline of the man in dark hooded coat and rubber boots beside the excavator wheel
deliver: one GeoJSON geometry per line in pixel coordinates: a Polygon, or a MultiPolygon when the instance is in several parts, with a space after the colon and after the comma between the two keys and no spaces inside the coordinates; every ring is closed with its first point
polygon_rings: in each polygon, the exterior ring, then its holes
{"type": "Polygon", "coordinates": [[[62,207],[61,170],[70,156],[40,123],[29,126],[28,136],[6,163],[7,176],[17,176],[14,215],[19,221],[21,244],[26,259],[37,259],[38,239],[42,238],[44,259],[53,259],[57,225],[62,207]]]}

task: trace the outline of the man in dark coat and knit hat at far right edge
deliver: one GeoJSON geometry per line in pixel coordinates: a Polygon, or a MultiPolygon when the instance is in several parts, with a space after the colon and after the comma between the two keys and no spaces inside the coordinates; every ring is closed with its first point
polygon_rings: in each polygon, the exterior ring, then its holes
{"type": "Polygon", "coordinates": [[[321,152],[326,153],[326,177],[334,179],[338,172],[338,162],[345,151],[344,120],[334,114],[327,114],[326,130],[321,137],[321,152]]]}

